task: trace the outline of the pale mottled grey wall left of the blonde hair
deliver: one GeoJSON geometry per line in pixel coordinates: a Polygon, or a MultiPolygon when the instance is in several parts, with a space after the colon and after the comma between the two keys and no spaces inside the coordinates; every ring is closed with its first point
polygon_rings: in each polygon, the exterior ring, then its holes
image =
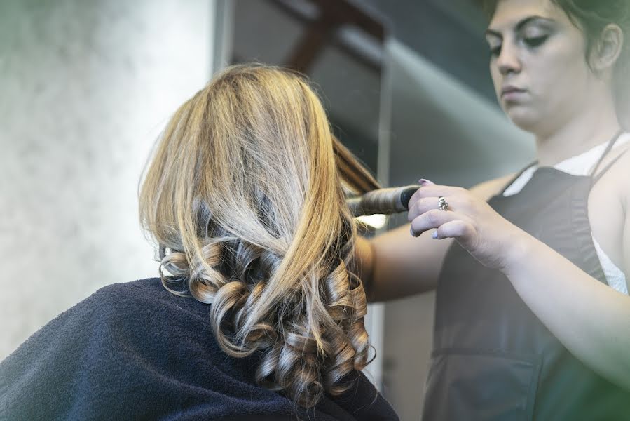
{"type": "Polygon", "coordinates": [[[137,184],[207,81],[211,4],[0,1],[0,359],[97,288],[156,275],[137,184]]]}

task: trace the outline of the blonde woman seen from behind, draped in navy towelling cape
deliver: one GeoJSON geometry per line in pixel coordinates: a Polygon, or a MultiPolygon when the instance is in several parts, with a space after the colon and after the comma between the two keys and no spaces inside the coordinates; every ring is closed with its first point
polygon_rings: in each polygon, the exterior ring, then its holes
{"type": "Polygon", "coordinates": [[[29,338],[0,364],[0,417],[397,419],[360,373],[366,297],[343,185],[376,182],[305,81],[226,69],[146,169],[160,278],[102,288],[29,338]]]}

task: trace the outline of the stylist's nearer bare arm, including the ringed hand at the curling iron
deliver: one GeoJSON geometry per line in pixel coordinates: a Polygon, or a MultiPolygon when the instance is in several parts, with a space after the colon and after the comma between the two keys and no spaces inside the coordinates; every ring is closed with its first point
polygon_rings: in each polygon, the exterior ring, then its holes
{"type": "MultiPolygon", "coordinates": [[[[630,182],[625,169],[629,165],[630,155],[615,164],[613,196],[622,198],[619,206],[624,210],[619,219],[609,221],[623,232],[619,247],[626,279],[630,277],[630,182]]],[[[521,299],[577,359],[630,390],[628,295],[583,272],[465,189],[430,186],[420,196],[409,211],[414,231],[437,229],[437,238],[457,239],[483,265],[504,272],[521,299]],[[434,210],[436,196],[448,196],[453,210],[434,210]]]]}

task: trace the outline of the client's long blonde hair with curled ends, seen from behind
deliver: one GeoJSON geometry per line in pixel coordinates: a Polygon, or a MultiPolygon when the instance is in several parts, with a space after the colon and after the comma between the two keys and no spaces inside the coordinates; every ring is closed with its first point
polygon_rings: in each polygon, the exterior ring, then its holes
{"type": "Polygon", "coordinates": [[[347,391],[345,375],[369,363],[342,185],[378,187],[308,84],[238,65],[179,107],[139,194],[165,288],[212,304],[224,352],[260,352],[256,381],[305,407],[347,391]]]}

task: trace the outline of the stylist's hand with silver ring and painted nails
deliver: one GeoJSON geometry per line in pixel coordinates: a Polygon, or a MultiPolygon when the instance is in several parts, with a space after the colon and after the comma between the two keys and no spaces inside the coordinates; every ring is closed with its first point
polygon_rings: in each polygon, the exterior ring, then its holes
{"type": "Polygon", "coordinates": [[[420,180],[420,189],[409,200],[411,234],[434,229],[434,239],[453,238],[482,265],[505,270],[518,259],[519,245],[528,234],[495,212],[485,201],[462,187],[435,185],[420,180]],[[439,210],[439,197],[448,203],[439,210]]]}

